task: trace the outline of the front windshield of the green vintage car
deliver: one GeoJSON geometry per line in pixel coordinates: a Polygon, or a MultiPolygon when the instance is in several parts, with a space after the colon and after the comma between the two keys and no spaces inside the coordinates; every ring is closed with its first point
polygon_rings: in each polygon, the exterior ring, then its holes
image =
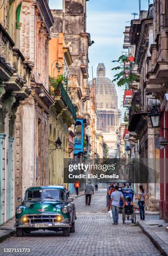
{"type": "Polygon", "coordinates": [[[26,192],[25,200],[56,200],[64,201],[64,192],[62,190],[35,189],[26,192]]]}

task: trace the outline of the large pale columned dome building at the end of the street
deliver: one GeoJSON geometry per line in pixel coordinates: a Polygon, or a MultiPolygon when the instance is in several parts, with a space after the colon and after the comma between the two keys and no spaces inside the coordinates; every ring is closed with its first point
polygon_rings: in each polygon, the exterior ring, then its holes
{"type": "MultiPolygon", "coordinates": [[[[89,82],[92,87],[92,81],[89,82]]],[[[101,131],[107,145],[116,146],[116,129],[120,125],[120,110],[115,84],[106,77],[106,68],[103,63],[97,66],[95,86],[95,101],[98,118],[96,131],[101,131]]]]}

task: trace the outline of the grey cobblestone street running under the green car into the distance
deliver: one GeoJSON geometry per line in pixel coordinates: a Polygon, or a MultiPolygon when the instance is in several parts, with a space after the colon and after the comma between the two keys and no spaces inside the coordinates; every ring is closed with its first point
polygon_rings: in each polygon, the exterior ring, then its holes
{"type": "MultiPolygon", "coordinates": [[[[62,233],[38,231],[12,236],[0,243],[0,255],[33,256],[157,256],[161,255],[150,239],[131,222],[119,225],[106,212],[106,189],[99,189],[85,205],[85,197],[74,200],[77,208],[76,232],[69,237],[62,233]],[[4,248],[30,248],[30,253],[4,253],[4,248]],[[142,252],[143,251],[143,252],[142,252]]],[[[139,216],[137,216],[139,219],[139,216]]],[[[146,216],[158,219],[158,216],[146,216]]]]}

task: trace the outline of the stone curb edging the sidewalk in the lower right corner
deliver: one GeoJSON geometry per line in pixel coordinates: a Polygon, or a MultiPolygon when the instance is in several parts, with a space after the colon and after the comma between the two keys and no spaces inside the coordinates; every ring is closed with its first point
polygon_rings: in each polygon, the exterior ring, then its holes
{"type": "Polygon", "coordinates": [[[152,243],[156,246],[158,251],[164,256],[168,256],[168,245],[164,243],[161,238],[159,238],[153,231],[149,230],[145,223],[138,221],[139,227],[142,229],[143,233],[151,239],[152,243]]]}

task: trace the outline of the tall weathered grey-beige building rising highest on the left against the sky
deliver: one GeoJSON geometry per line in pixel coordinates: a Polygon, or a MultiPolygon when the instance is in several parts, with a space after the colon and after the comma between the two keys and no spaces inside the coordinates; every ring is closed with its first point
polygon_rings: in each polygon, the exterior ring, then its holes
{"type": "MultiPolygon", "coordinates": [[[[89,125],[89,113],[85,111],[89,100],[88,48],[91,46],[91,41],[89,33],[86,33],[86,0],[78,2],[63,0],[63,10],[52,10],[52,15],[54,17],[52,33],[64,33],[72,56],[73,63],[69,66],[69,95],[77,110],[77,116],[85,119],[87,115],[86,125],[89,125]]],[[[75,147],[79,146],[76,143],[78,144],[79,141],[74,142],[75,147]]],[[[84,153],[84,145],[82,141],[81,143],[81,151],[76,148],[75,155],[84,153]]]]}

